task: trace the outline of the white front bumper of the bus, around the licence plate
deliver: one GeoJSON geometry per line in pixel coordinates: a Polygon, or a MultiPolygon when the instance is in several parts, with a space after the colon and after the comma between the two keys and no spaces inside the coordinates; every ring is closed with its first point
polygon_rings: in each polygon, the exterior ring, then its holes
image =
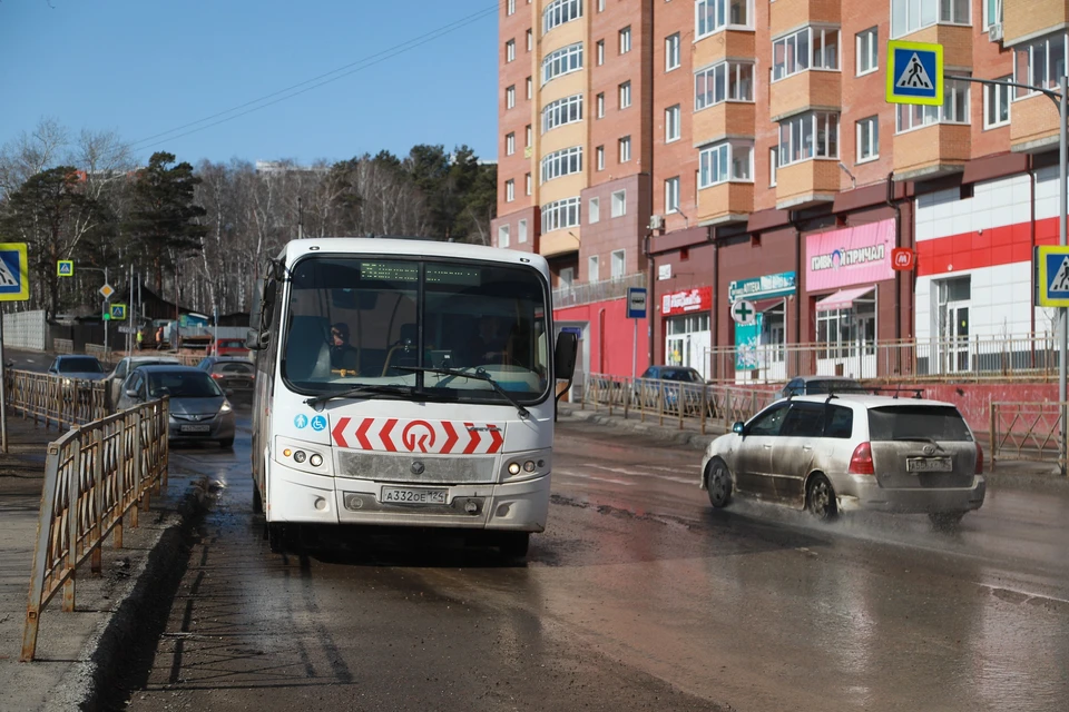
{"type": "Polygon", "coordinates": [[[549,475],[503,484],[393,485],[298,472],[272,463],[266,517],[272,523],[382,524],[541,532],[549,475]],[[384,491],[430,490],[441,503],[384,502],[384,491]],[[440,494],[444,491],[444,496],[440,494]]]}

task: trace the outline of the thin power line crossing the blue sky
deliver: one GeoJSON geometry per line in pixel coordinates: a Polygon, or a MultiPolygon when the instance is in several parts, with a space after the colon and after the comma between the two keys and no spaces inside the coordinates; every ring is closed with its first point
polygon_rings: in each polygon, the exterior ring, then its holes
{"type": "Polygon", "coordinates": [[[290,87],[286,87],[285,89],[279,89],[279,90],[277,90],[277,91],[273,91],[272,93],[265,95],[265,96],[259,97],[259,98],[257,98],[257,99],[253,99],[253,100],[251,100],[251,101],[246,101],[245,103],[238,105],[238,106],[236,106],[236,107],[232,107],[232,108],[226,109],[226,110],[224,110],[224,111],[219,111],[219,112],[217,112],[217,113],[213,113],[212,116],[207,116],[207,117],[205,117],[205,118],[203,118],[203,119],[198,119],[198,120],[196,120],[196,121],[190,121],[190,122],[188,122],[188,123],[184,123],[184,125],[182,125],[182,126],[175,127],[175,128],[169,129],[169,130],[167,130],[167,131],[161,131],[161,132],[159,132],[159,134],[155,134],[155,135],[153,135],[153,136],[145,137],[145,138],[143,138],[143,139],[139,139],[139,140],[137,140],[137,141],[134,141],[133,144],[130,144],[130,148],[134,149],[134,150],[138,150],[138,149],[144,149],[144,148],[150,148],[150,147],[154,147],[154,146],[158,146],[158,145],[160,145],[160,144],[164,144],[165,141],[171,141],[171,140],[175,140],[175,139],[179,139],[179,138],[183,138],[183,137],[185,137],[185,136],[189,136],[189,135],[192,135],[192,134],[196,134],[196,132],[198,132],[198,131],[203,131],[203,130],[205,130],[205,129],[209,129],[209,128],[212,128],[212,127],[214,127],[214,126],[218,126],[219,123],[225,123],[225,122],[227,122],[227,121],[232,121],[232,120],[234,120],[234,119],[241,118],[241,117],[246,116],[246,115],[248,115],[248,113],[252,113],[252,112],[254,112],[254,111],[259,111],[261,109],[266,109],[266,108],[269,107],[269,106],[273,106],[273,105],[278,103],[278,102],[281,102],[281,101],[285,101],[286,99],[292,99],[292,98],[294,98],[294,97],[301,96],[302,93],[305,93],[305,92],[307,92],[307,91],[312,91],[313,89],[317,89],[317,88],[320,88],[320,87],[322,87],[322,86],[324,86],[324,85],[328,85],[328,83],[331,83],[331,82],[333,82],[333,81],[337,81],[339,79],[343,79],[344,77],[349,77],[350,75],[356,73],[356,72],[359,72],[359,71],[363,71],[364,69],[367,69],[367,68],[370,68],[370,67],[374,67],[375,65],[382,63],[383,61],[385,61],[385,60],[388,60],[388,59],[392,59],[392,58],[394,58],[394,57],[398,57],[398,56],[400,56],[400,55],[403,55],[403,53],[405,53],[405,52],[409,52],[409,51],[411,51],[411,50],[413,50],[413,49],[418,49],[418,48],[420,48],[420,47],[422,47],[422,46],[424,46],[424,44],[428,44],[428,43],[430,43],[430,42],[432,42],[432,41],[434,41],[434,40],[437,40],[437,39],[440,39],[440,38],[447,36],[447,34],[450,34],[450,33],[452,33],[452,32],[455,32],[455,31],[459,30],[459,29],[462,29],[462,28],[464,28],[464,27],[468,27],[468,26],[470,26],[470,24],[473,24],[474,22],[477,22],[477,21],[479,21],[479,20],[481,20],[481,19],[483,19],[483,18],[486,18],[486,17],[489,17],[491,13],[497,12],[497,10],[498,10],[502,4],[503,4],[503,2],[497,2],[497,3],[494,3],[492,7],[486,8],[486,9],[483,9],[483,10],[480,10],[480,11],[474,12],[474,13],[472,13],[472,14],[469,14],[469,16],[467,16],[467,17],[460,18],[459,20],[453,20],[452,22],[450,22],[450,23],[448,23],[448,24],[444,24],[444,26],[442,26],[442,27],[440,27],[440,28],[438,28],[438,29],[431,30],[430,32],[425,32],[425,33],[420,34],[420,36],[418,36],[418,37],[414,37],[414,38],[412,38],[412,39],[405,40],[404,42],[401,42],[401,43],[399,43],[399,44],[394,44],[393,47],[388,48],[388,49],[384,49],[384,50],[381,50],[381,51],[379,51],[379,52],[375,52],[374,55],[369,55],[367,57],[364,57],[363,59],[359,59],[359,60],[356,60],[356,61],[354,61],[354,62],[350,62],[349,65],[345,65],[345,66],[343,66],[343,67],[339,67],[337,69],[333,69],[333,70],[331,70],[331,71],[328,71],[328,72],[324,72],[324,73],[322,73],[322,75],[318,75],[317,77],[313,77],[313,78],[311,78],[311,79],[306,79],[306,80],[301,81],[301,82],[297,82],[297,83],[295,83],[295,85],[291,85],[290,87]],[[345,71],[345,70],[347,70],[347,71],[345,71]],[[342,73],[339,73],[339,72],[342,72],[342,73]],[[328,79],[327,79],[327,77],[328,77],[328,79]],[[313,82],[315,82],[315,83],[313,83],[313,82]],[[306,85],[311,85],[311,86],[306,86],[306,85]],[[301,87],[304,87],[304,88],[301,89],[301,87]],[[300,89],[300,90],[298,90],[298,91],[293,91],[294,89],[300,89]],[[279,95],[284,95],[284,96],[279,96],[279,95]],[[278,97],[278,98],[277,98],[277,99],[274,99],[274,101],[267,101],[266,103],[263,103],[264,101],[266,101],[267,99],[272,99],[273,97],[278,97]],[[255,106],[255,105],[258,105],[258,106],[255,106]],[[241,112],[238,112],[238,113],[234,113],[235,111],[238,111],[239,109],[245,109],[246,107],[252,107],[252,108],[248,108],[248,109],[246,109],[245,111],[241,111],[241,112]],[[233,116],[227,116],[227,115],[231,115],[231,113],[233,113],[233,116]],[[226,117],[226,118],[219,118],[219,117],[226,117]],[[213,119],[218,119],[218,120],[217,120],[217,121],[212,121],[213,119]],[[204,123],[205,121],[212,121],[212,122],[210,122],[210,123],[207,123],[207,125],[205,125],[205,126],[200,126],[200,127],[198,127],[198,128],[192,129],[192,130],[189,130],[189,131],[185,131],[185,132],[183,132],[183,134],[178,134],[177,136],[169,136],[170,134],[175,134],[176,131],[183,131],[183,129],[187,129],[187,128],[197,126],[198,123],[204,123]],[[167,137],[167,138],[164,139],[163,137],[167,137]],[[161,140],[159,140],[159,141],[155,140],[155,139],[157,139],[157,138],[159,138],[159,139],[161,139],[161,140]]]}

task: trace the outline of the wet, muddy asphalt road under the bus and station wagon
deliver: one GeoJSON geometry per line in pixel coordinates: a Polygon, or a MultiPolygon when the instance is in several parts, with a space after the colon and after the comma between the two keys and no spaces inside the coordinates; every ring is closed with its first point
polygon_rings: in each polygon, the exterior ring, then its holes
{"type": "Polygon", "coordinates": [[[822,526],[713,512],[699,453],[566,422],[526,566],[452,542],[272,554],[248,439],[131,710],[1066,710],[1069,494],[822,526]]]}

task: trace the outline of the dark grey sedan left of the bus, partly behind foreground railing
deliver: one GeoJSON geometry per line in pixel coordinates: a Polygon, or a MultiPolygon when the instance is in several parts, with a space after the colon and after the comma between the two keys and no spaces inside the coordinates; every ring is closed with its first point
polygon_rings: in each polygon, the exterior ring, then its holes
{"type": "Polygon", "coordinates": [[[215,380],[193,366],[141,366],[122,384],[118,408],[170,397],[171,442],[214,441],[234,445],[234,408],[215,380]]]}

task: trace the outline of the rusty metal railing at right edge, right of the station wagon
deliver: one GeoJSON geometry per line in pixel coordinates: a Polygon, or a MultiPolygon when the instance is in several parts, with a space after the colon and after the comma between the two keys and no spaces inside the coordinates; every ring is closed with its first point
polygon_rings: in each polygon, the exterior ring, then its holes
{"type": "Polygon", "coordinates": [[[991,403],[988,446],[991,469],[999,459],[1058,463],[1066,472],[1061,424],[1069,403],[991,403]]]}

